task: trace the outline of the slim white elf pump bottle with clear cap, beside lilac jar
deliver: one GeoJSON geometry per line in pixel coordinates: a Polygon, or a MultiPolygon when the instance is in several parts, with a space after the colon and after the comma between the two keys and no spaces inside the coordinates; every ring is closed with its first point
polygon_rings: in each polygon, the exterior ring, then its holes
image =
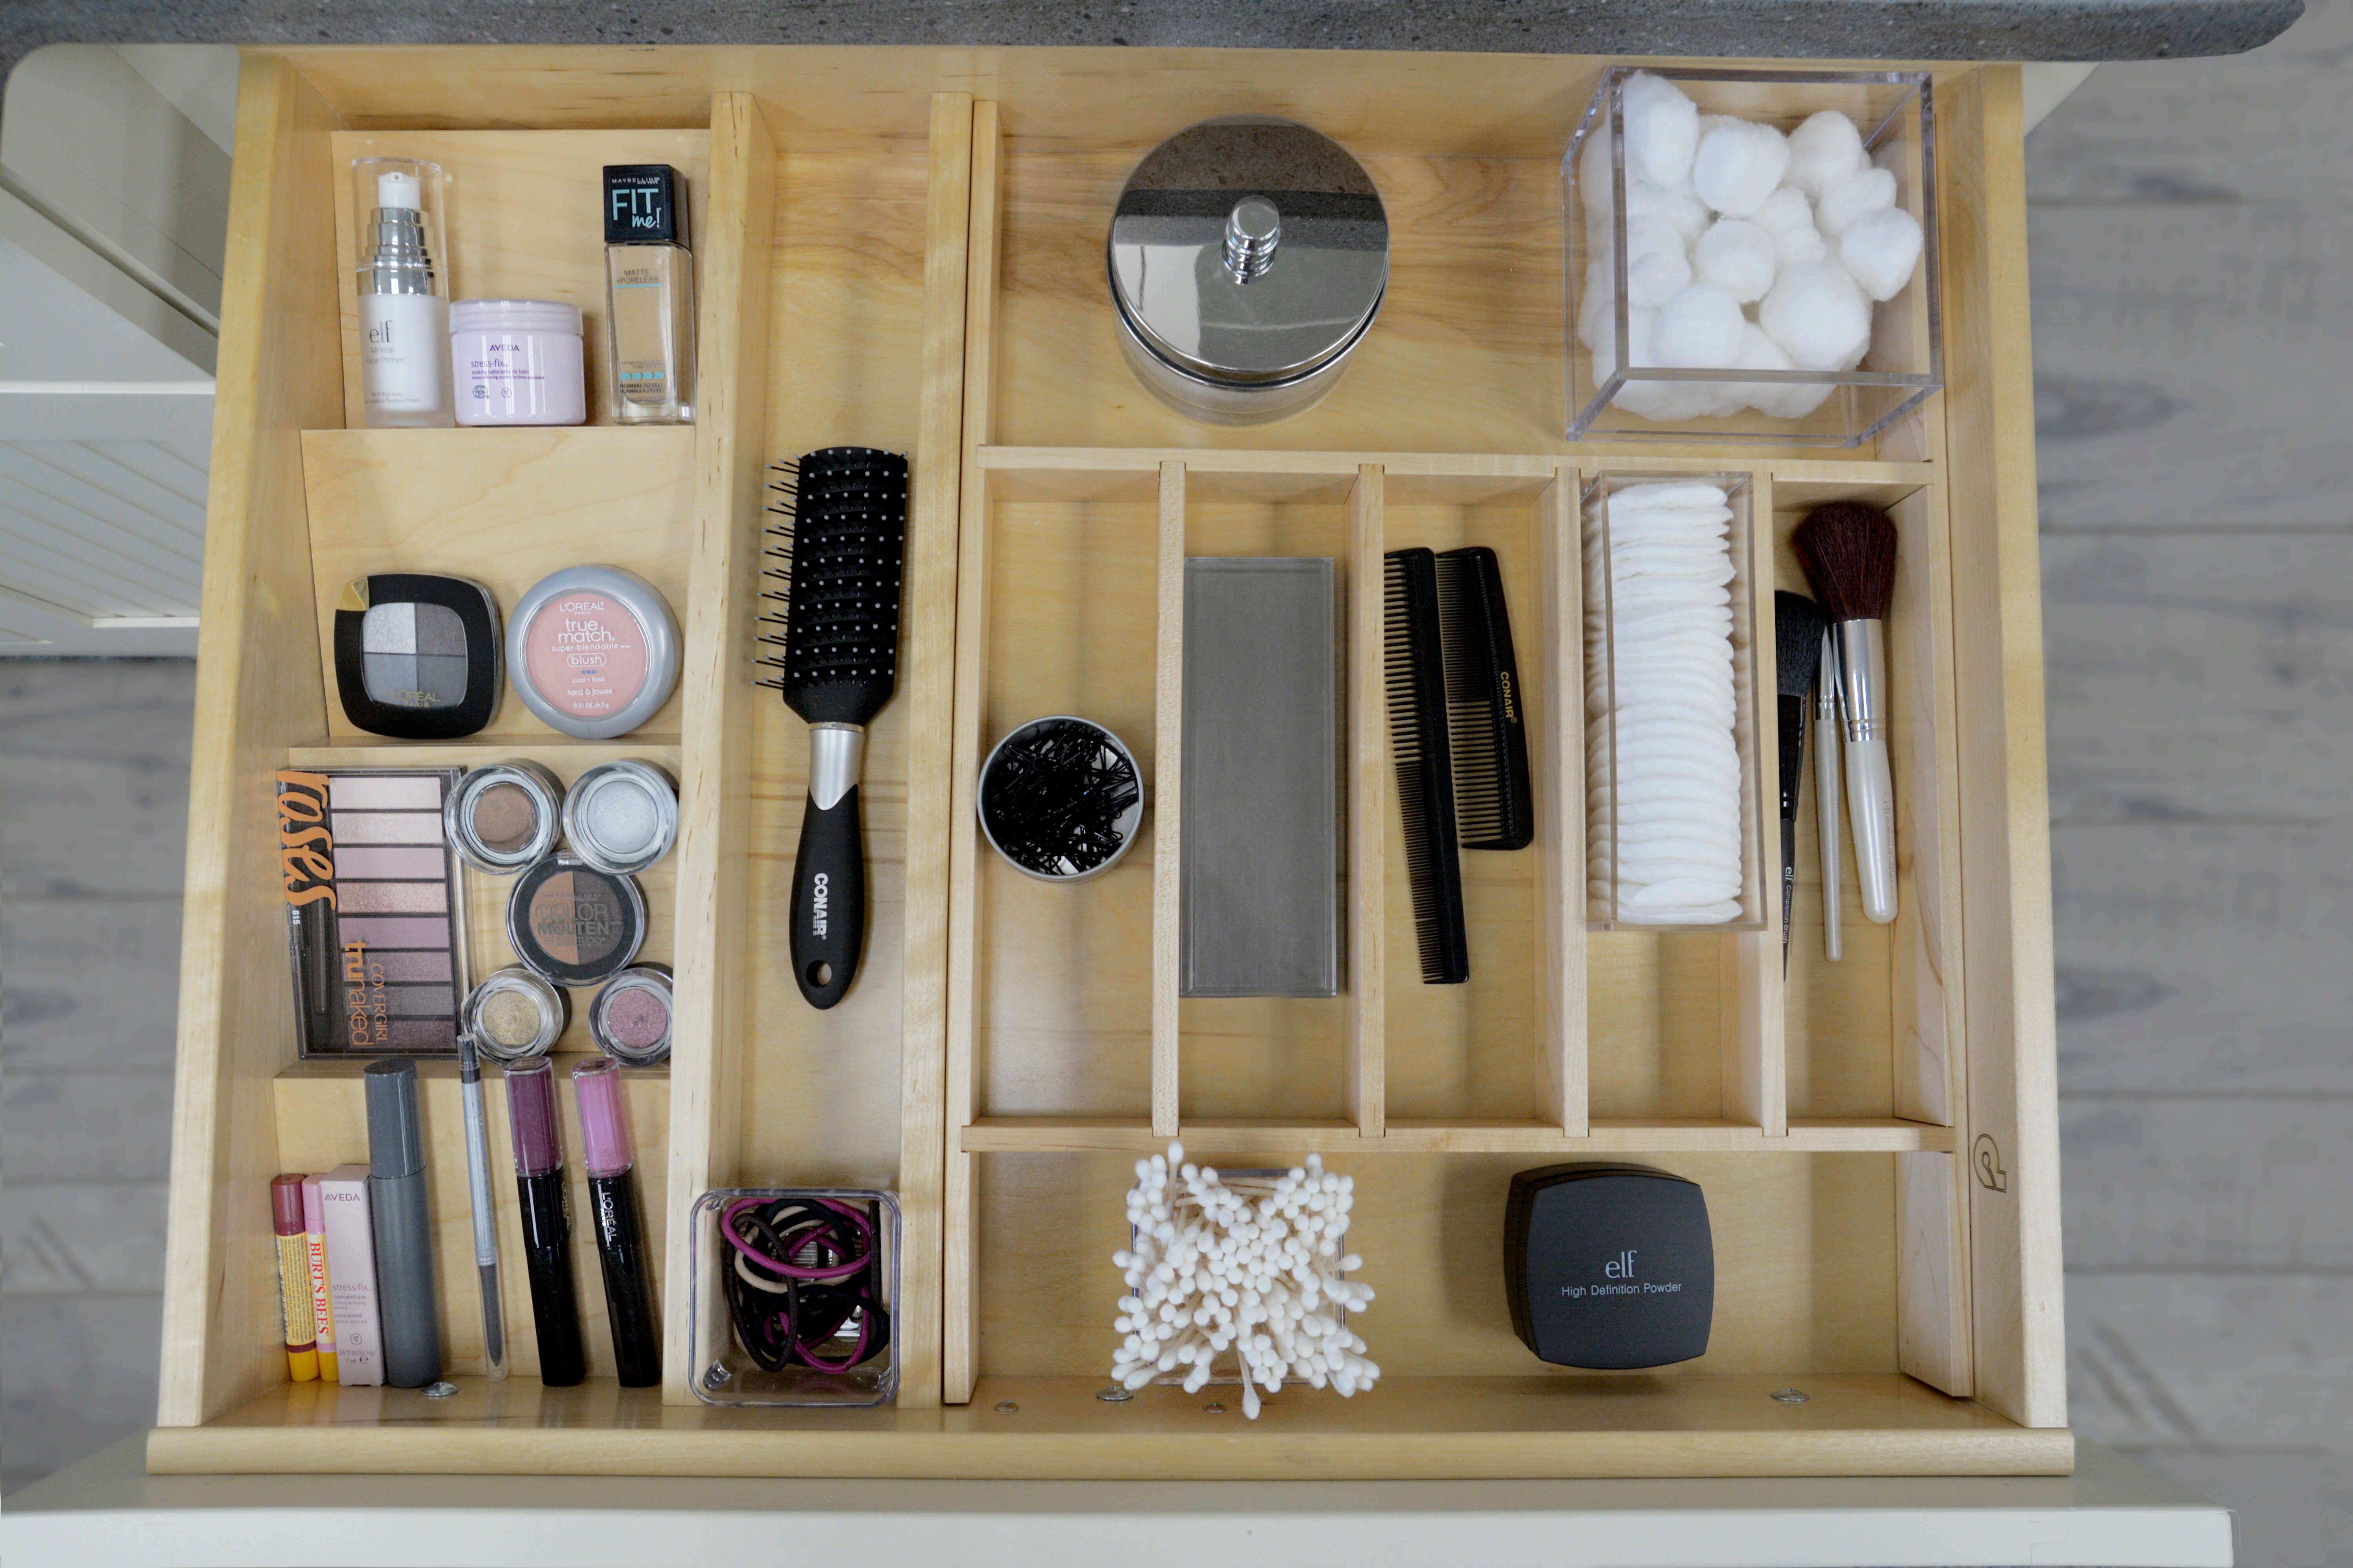
{"type": "Polygon", "coordinates": [[[358,158],[360,390],[374,428],[449,425],[449,266],[442,172],[414,158],[358,158]]]}

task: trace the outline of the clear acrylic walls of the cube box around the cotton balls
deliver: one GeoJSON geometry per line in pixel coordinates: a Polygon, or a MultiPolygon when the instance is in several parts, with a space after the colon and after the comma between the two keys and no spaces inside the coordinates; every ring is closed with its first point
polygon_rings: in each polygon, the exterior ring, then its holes
{"type": "Polygon", "coordinates": [[[1937,127],[1925,71],[1718,71],[1661,68],[1652,75],[1680,87],[1701,115],[1737,115],[1762,120],[1781,132],[1807,115],[1835,108],[1864,134],[1871,162],[1897,176],[1897,207],[1911,212],[1922,230],[1922,259],[1913,280],[1894,299],[1873,306],[1871,348],[1852,371],[1744,371],[1744,369],[1666,369],[1614,364],[1579,341],[1579,313],[1588,303],[1586,273],[1600,263],[1614,280],[1614,310],[1605,343],[1626,341],[1626,127],[1621,92],[1638,66],[1612,66],[1602,73],[1593,103],[1586,108],[1560,162],[1560,186],[1567,200],[1565,244],[1569,282],[1569,440],[1631,437],[1675,442],[1767,442],[1781,447],[1859,447],[1894,418],[1918,407],[1944,386],[1944,341],[1937,294],[1937,127]],[[1609,139],[1607,226],[1588,221],[1586,193],[1579,190],[1586,141],[1609,139]],[[1607,374],[1595,374],[1595,371],[1607,374]],[[1645,418],[1621,407],[1628,386],[1666,388],[1715,383],[1739,388],[1817,386],[1831,395],[1802,418],[1772,418],[1758,409],[1711,418],[1645,418]]]}

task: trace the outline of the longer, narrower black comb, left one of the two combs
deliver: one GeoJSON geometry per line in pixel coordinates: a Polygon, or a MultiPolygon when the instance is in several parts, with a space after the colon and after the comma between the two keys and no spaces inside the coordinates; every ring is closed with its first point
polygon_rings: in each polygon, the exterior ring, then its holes
{"type": "MultiPolygon", "coordinates": [[[[1398,759],[1405,870],[1414,893],[1414,940],[1424,985],[1471,978],[1464,936],[1464,872],[1454,844],[1454,759],[1447,745],[1447,675],[1438,632],[1438,557],[1381,557],[1388,750],[1398,759]]],[[[1522,764],[1525,766],[1525,764],[1522,764]]]]}

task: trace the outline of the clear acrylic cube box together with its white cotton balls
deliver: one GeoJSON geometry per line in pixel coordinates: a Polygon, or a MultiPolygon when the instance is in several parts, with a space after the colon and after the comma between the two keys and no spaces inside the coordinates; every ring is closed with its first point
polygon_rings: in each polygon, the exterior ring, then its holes
{"type": "MultiPolygon", "coordinates": [[[[1772,139],[1755,141],[1772,153],[1772,139]]],[[[1944,386],[1927,73],[1612,66],[1569,141],[1560,176],[1567,200],[1572,442],[1647,437],[1857,447],[1944,386]],[[1678,115],[1682,132],[1692,132],[1692,115],[1678,110],[1673,99],[1689,99],[1697,108],[1701,139],[1729,122],[1791,134],[1821,110],[1838,110],[1854,125],[1859,162],[1833,176],[1835,195],[1824,186],[1802,188],[1798,160],[1791,160],[1791,174],[1781,179],[1802,202],[1772,188],[1769,207],[1760,212],[1718,209],[1699,200],[1699,188],[1729,207],[1744,205],[1744,132],[1706,146],[1706,167],[1692,158],[1680,186],[1645,179],[1645,167],[1659,172],[1661,160],[1671,162],[1680,150],[1678,115]],[[1652,162],[1645,165],[1645,158],[1652,162]],[[1814,226],[1819,254],[1795,228],[1798,212],[1814,226]],[[1847,242],[1859,219],[1868,226],[1847,242]],[[1826,237],[1821,223],[1838,223],[1840,233],[1826,237]],[[1769,259],[1758,254],[1751,226],[1774,240],[1769,259]],[[1918,230],[1920,254],[1899,280],[1885,261],[1873,268],[1885,247],[1871,240],[1887,230],[1901,240],[1906,226],[1918,230]],[[1680,254],[1671,254],[1678,237],[1680,254]],[[1854,263],[1847,266],[1842,254],[1852,254],[1854,263]],[[1767,292],[1739,301],[1739,331],[1746,336],[1734,339],[1734,322],[1725,317],[1729,306],[1715,294],[1729,289],[1739,296],[1755,287],[1760,266],[1772,275],[1767,292]],[[1833,357],[1828,350],[1840,343],[1826,339],[1857,329],[1854,299],[1847,296],[1852,277],[1868,277],[1854,284],[1868,306],[1868,324],[1859,348],[1847,339],[1845,353],[1833,357]],[[1687,282],[1708,282],[1711,289],[1687,289],[1687,282]],[[1887,296],[1873,301],[1871,289],[1887,296]],[[1668,308],[1659,308],[1661,301],[1668,308]],[[1826,353],[1802,364],[1772,341],[1762,322],[1800,348],[1826,353]],[[1817,331],[1821,322],[1828,324],[1817,331]],[[1628,341],[1633,353],[1621,355],[1619,346],[1628,341]],[[1692,362],[1694,346],[1711,350],[1732,341],[1741,343],[1732,355],[1692,362]],[[1661,362],[1668,357],[1678,362],[1661,362]]],[[[1894,263],[1901,266],[1901,249],[1894,263]]]]}

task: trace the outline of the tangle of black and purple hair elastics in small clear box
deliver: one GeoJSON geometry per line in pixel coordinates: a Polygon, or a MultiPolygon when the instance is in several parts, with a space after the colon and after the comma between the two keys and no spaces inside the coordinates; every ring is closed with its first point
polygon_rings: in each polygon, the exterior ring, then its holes
{"type": "Polygon", "coordinates": [[[889,1347],[880,1246],[864,1204],[819,1197],[736,1199],[720,1215],[734,1248],[727,1312],[744,1352],[769,1373],[802,1363],[847,1373],[889,1347]],[[854,1328],[852,1328],[854,1324],[854,1328]],[[828,1361],[835,1340],[847,1354],[828,1361]]]}

